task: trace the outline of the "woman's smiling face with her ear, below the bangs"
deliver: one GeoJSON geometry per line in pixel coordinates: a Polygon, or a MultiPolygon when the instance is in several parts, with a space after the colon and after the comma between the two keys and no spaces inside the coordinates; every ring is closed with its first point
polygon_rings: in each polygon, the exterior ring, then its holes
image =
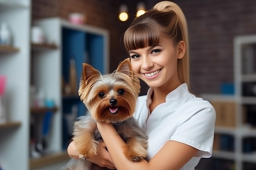
{"type": "Polygon", "coordinates": [[[129,51],[132,70],[150,87],[175,88],[181,84],[177,61],[184,56],[184,52],[183,41],[175,46],[171,39],[160,36],[155,46],[129,51]]]}

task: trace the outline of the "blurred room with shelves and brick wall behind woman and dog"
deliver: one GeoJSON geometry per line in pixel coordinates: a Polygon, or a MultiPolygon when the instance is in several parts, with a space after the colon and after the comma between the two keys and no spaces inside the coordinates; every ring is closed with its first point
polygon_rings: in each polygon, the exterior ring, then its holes
{"type": "MultiPolygon", "coordinates": [[[[86,110],[81,63],[114,71],[129,56],[124,31],[157,2],[0,0],[1,170],[65,165],[72,123],[86,110]]],[[[173,2],[188,22],[191,90],[217,114],[213,156],[196,169],[256,170],[256,1],[173,2]]]]}

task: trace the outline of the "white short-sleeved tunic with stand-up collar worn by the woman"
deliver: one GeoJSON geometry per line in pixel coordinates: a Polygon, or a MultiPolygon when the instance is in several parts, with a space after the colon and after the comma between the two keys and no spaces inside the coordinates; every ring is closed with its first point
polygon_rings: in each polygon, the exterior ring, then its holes
{"type": "MultiPolygon", "coordinates": [[[[166,141],[187,144],[199,151],[180,170],[194,170],[200,158],[212,154],[216,113],[213,106],[188,91],[182,84],[166,96],[166,102],[158,105],[150,114],[149,104],[153,90],[140,96],[137,101],[135,119],[148,135],[148,157],[150,160],[166,141]]],[[[171,160],[170,160],[171,161],[171,160]]]]}

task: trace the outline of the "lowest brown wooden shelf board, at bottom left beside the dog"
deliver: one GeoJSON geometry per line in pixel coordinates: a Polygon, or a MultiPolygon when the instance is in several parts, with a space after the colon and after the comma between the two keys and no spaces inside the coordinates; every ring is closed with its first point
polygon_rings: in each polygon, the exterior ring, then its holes
{"type": "Polygon", "coordinates": [[[44,167],[50,164],[68,161],[70,157],[67,152],[58,152],[50,155],[44,155],[40,158],[32,158],[29,161],[30,169],[44,167]]]}

